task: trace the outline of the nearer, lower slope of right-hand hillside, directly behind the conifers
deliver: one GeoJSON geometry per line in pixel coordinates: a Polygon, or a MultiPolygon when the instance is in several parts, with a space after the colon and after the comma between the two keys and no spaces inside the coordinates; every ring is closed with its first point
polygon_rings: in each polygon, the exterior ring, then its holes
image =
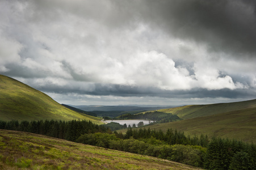
{"type": "MultiPolygon", "coordinates": [[[[240,139],[244,142],[256,143],[256,107],[165,124],[149,125],[146,128],[161,129],[164,132],[167,129],[177,129],[190,136],[207,134],[210,138],[240,139]]],[[[126,130],[121,131],[125,133],[126,130]]]]}

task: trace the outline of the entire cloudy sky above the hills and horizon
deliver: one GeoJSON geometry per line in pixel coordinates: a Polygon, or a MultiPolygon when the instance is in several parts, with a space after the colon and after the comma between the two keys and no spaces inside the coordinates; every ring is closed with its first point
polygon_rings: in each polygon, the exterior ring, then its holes
{"type": "Polygon", "coordinates": [[[256,99],[256,1],[0,0],[0,74],[73,105],[256,99]]]}

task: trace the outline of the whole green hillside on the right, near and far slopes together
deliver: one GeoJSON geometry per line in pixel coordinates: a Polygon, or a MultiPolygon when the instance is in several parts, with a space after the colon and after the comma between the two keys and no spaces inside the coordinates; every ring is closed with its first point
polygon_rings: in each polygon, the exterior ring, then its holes
{"type": "MultiPolygon", "coordinates": [[[[187,105],[161,109],[160,112],[177,114],[181,121],[154,124],[146,128],[177,129],[186,135],[207,134],[208,137],[240,139],[256,142],[256,100],[208,105],[187,105]]],[[[125,133],[124,130],[120,130],[125,133]]]]}

